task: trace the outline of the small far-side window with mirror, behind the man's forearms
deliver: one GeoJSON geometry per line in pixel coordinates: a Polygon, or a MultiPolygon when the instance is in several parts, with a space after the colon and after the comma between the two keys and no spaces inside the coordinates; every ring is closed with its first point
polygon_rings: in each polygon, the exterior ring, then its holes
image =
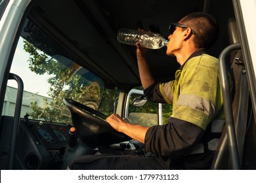
{"type": "Polygon", "coordinates": [[[131,124],[158,125],[158,104],[146,100],[141,90],[132,90],[129,94],[129,106],[126,118],[131,124]]]}

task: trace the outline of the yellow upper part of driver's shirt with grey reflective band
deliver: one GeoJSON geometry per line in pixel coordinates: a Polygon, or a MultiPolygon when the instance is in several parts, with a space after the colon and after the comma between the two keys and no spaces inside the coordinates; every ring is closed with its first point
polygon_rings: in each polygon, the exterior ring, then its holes
{"type": "Polygon", "coordinates": [[[175,80],[161,83],[159,88],[165,101],[173,104],[173,118],[204,130],[223,107],[219,61],[207,54],[188,60],[175,73],[175,80]]]}

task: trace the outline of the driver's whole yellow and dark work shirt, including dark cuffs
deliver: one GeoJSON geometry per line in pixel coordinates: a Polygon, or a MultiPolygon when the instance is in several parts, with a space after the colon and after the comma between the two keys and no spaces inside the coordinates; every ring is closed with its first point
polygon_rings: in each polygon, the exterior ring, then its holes
{"type": "MultiPolygon", "coordinates": [[[[173,105],[168,124],[148,129],[144,143],[146,150],[164,158],[190,154],[198,144],[202,144],[205,129],[210,123],[214,124],[211,129],[220,136],[224,110],[219,60],[205,54],[205,49],[197,50],[187,59],[175,73],[175,80],[152,84],[144,94],[150,101],[173,105]]],[[[214,138],[207,141],[211,139],[214,138]]],[[[209,144],[211,150],[216,146],[215,143],[211,148],[209,144]]],[[[203,153],[202,150],[199,153],[203,153]]]]}

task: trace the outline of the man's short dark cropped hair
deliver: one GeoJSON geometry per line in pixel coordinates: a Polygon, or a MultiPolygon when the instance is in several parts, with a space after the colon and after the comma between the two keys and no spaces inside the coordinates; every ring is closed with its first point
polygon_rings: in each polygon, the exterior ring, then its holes
{"type": "Polygon", "coordinates": [[[210,14],[192,12],[182,18],[181,22],[196,32],[194,43],[197,48],[210,48],[219,36],[219,25],[210,14]]]}

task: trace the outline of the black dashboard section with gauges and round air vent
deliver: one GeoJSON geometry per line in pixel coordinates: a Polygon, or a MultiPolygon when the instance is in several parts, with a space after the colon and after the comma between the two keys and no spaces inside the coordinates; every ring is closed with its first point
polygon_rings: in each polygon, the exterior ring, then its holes
{"type": "Polygon", "coordinates": [[[71,125],[21,120],[16,146],[18,169],[61,169],[71,125]]]}

